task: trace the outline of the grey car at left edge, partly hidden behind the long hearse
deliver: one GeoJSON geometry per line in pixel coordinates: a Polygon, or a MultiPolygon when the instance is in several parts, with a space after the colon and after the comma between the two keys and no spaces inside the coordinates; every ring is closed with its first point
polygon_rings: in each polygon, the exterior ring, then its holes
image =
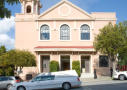
{"type": "Polygon", "coordinates": [[[20,81],[18,76],[0,76],[0,89],[9,89],[13,84],[20,81]]]}

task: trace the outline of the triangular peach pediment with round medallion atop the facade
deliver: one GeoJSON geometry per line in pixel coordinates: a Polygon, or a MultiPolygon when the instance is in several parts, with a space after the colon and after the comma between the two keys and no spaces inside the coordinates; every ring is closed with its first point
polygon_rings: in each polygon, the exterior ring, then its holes
{"type": "Polygon", "coordinates": [[[38,19],[93,19],[92,16],[67,0],[62,0],[42,13],[38,19]]]}

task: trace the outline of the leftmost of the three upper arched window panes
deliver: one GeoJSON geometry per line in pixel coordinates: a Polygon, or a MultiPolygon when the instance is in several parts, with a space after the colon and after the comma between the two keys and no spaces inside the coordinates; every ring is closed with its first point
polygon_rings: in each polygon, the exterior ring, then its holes
{"type": "Polygon", "coordinates": [[[40,29],[40,40],[49,40],[50,30],[48,25],[42,25],[40,29]]]}

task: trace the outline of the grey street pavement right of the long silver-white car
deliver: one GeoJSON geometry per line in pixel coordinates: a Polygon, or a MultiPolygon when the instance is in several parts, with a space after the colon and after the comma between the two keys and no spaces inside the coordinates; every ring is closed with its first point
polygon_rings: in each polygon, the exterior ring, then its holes
{"type": "MultiPolygon", "coordinates": [[[[63,89],[54,89],[63,90],[63,89]]],[[[82,80],[80,88],[72,88],[71,90],[127,90],[127,80],[112,80],[111,78],[82,80]]]]}

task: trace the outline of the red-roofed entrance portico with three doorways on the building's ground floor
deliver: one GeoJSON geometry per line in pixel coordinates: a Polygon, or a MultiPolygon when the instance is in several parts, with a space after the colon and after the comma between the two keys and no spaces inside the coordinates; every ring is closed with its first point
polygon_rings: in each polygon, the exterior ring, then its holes
{"type": "Polygon", "coordinates": [[[52,60],[59,62],[59,70],[71,70],[73,61],[80,61],[82,73],[92,73],[92,55],[95,51],[92,47],[62,47],[58,49],[56,46],[51,47],[36,47],[35,52],[39,55],[38,69],[39,72],[49,72],[49,62],[52,60]],[[39,49],[40,48],[40,49],[39,49]],[[57,49],[57,51],[56,51],[57,49]],[[83,51],[84,50],[84,51],[83,51]],[[85,51],[87,50],[87,51],[85,51]],[[93,51],[92,51],[93,50],[93,51]]]}

